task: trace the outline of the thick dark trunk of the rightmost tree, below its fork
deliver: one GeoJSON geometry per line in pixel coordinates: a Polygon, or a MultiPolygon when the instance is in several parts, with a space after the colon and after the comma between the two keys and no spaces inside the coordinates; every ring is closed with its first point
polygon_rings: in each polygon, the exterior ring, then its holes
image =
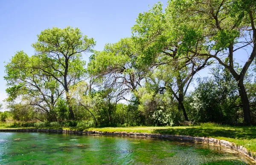
{"type": "Polygon", "coordinates": [[[249,107],[249,99],[247,97],[247,93],[244,87],[244,82],[242,80],[237,81],[239,95],[243,104],[243,112],[244,112],[244,123],[251,124],[250,117],[250,107],[249,107]]]}

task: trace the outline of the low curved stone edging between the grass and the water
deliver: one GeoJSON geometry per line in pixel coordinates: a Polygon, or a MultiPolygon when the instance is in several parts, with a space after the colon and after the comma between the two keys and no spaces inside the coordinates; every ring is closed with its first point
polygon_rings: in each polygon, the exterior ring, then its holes
{"type": "Polygon", "coordinates": [[[243,146],[238,146],[226,140],[219,140],[219,139],[207,138],[207,137],[164,135],[164,134],[153,134],[153,133],[100,132],[100,131],[53,130],[53,129],[52,130],[51,129],[0,129],[0,132],[78,133],[78,134],[86,134],[86,135],[137,136],[137,137],[149,137],[149,138],[167,138],[167,139],[175,139],[175,140],[187,140],[192,142],[202,142],[202,143],[220,145],[227,148],[231,148],[235,151],[242,153],[244,156],[247,156],[250,159],[256,161],[256,156],[253,156],[253,154],[243,146]]]}

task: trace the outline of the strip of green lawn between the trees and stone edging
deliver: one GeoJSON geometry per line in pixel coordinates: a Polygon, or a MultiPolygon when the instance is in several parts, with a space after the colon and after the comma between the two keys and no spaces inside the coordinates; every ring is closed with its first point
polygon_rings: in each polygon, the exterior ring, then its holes
{"type": "MultiPolygon", "coordinates": [[[[12,128],[11,124],[0,124],[0,129],[12,128]]],[[[25,128],[25,127],[19,127],[25,128]]],[[[199,124],[195,126],[179,127],[26,127],[26,128],[47,128],[63,130],[95,130],[102,132],[133,132],[133,133],[157,133],[171,135],[188,135],[200,137],[212,137],[221,140],[234,142],[236,145],[243,145],[256,155],[256,126],[229,126],[213,123],[199,124]]],[[[17,129],[17,128],[16,128],[17,129]]]]}

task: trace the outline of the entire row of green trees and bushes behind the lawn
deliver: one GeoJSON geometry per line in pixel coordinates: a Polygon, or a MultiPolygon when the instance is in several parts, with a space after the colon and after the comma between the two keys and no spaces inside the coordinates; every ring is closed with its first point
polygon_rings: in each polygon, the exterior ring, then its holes
{"type": "Polygon", "coordinates": [[[45,29],[35,55],[19,51],[6,64],[9,110],[19,121],[90,126],[253,124],[255,21],[252,0],[169,0],[102,51],[78,28],[45,29]],[[210,76],[196,80],[206,67],[210,76]]]}

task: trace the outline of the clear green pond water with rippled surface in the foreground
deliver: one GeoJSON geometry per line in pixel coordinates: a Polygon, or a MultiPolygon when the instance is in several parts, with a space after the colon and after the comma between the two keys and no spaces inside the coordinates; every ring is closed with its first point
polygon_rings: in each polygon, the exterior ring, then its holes
{"type": "Polygon", "coordinates": [[[251,165],[220,146],[164,139],[0,132],[0,165],[251,165]]]}

